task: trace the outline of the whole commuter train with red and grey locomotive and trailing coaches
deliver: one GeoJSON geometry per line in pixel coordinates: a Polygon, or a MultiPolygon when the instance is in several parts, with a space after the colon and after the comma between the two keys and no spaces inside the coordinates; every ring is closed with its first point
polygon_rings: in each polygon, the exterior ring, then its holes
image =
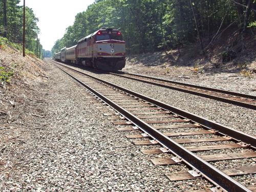
{"type": "Polygon", "coordinates": [[[53,58],[104,71],[121,70],[125,66],[125,41],[119,30],[103,28],[73,47],[62,48],[53,58]]]}

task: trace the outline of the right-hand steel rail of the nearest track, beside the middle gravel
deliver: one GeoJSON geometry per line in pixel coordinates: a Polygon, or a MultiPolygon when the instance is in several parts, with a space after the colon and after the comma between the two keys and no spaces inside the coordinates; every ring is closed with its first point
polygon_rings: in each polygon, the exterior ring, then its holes
{"type": "MultiPolygon", "coordinates": [[[[54,62],[56,62],[56,61],[54,61],[54,62]]],[[[60,62],[56,62],[56,63],[58,63],[59,65],[62,65],[62,63],[60,63],[60,62]]],[[[182,116],[184,118],[191,119],[192,121],[203,125],[207,129],[217,130],[217,131],[219,131],[219,133],[221,133],[223,135],[227,135],[229,137],[232,137],[234,140],[237,140],[237,141],[243,141],[244,143],[250,144],[252,147],[256,148],[256,137],[254,137],[254,136],[245,134],[245,133],[240,132],[240,131],[235,130],[235,129],[231,129],[230,127],[227,127],[227,126],[224,126],[224,125],[219,124],[217,122],[214,122],[214,121],[205,119],[203,117],[194,115],[192,113],[186,112],[186,111],[181,110],[179,108],[175,108],[174,106],[171,106],[169,104],[166,104],[166,103],[163,103],[163,102],[158,101],[156,99],[153,99],[151,97],[147,97],[145,95],[133,92],[133,91],[131,91],[129,89],[122,88],[120,86],[117,86],[116,84],[113,84],[111,82],[108,82],[108,81],[102,80],[100,78],[94,77],[94,76],[89,75],[87,73],[83,73],[81,71],[77,71],[77,70],[72,69],[72,68],[70,68],[68,66],[64,66],[64,65],[62,65],[62,66],[65,67],[65,68],[71,69],[73,71],[76,71],[76,72],[78,72],[80,74],[87,75],[87,76],[89,76],[89,77],[91,77],[93,79],[96,79],[98,81],[104,82],[105,84],[109,84],[110,86],[112,86],[112,87],[114,87],[116,89],[119,89],[121,91],[129,93],[129,94],[131,94],[133,96],[136,96],[136,97],[138,97],[140,99],[143,99],[143,100],[145,100],[147,102],[151,102],[152,104],[155,104],[155,105],[159,106],[160,108],[162,108],[162,109],[164,109],[166,111],[172,111],[172,112],[174,112],[174,113],[176,113],[176,114],[178,114],[178,115],[180,115],[180,116],[182,116]]]]}

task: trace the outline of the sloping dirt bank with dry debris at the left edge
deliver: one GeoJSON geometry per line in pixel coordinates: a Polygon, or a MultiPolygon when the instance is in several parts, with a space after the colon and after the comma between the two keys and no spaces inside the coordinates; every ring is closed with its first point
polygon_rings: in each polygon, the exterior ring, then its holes
{"type": "Polygon", "coordinates": [[[44,62],[23,57],[17,50],[5,46],[0,49],[0,77],[0,129],[5,129],[26,116],[24,107],[36,99],[32,91],[36,91],[48,76],[44,62]]]}

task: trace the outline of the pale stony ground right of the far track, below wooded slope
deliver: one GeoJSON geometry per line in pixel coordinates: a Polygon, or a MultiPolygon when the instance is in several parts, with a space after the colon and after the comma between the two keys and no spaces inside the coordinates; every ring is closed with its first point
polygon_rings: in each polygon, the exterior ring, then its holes
{"type": "MultiPolygon", "coordinates": [[[[255,58],[254,58],[255,60],[255,58]]],[[[216,89],[224,89],[233,92],[240,92],[250,95],[256,95],[256,74],[252,73],[246,77],[239,73],[238,70],[228,69],[207,69],[210,66],[205,66],[206,72],[200,70],[197,72],[197,67],[186,67],[186,66],[172,66],[169,69],[169,73],[163,75],[165,68],[149,67],[134,65],[133,62],[126,62],[127,65],[123,69],[125,72],[153,76],[157,78],[164,78],[174,81],[181,81],[186,83],[197,84],[199,86],[206,86],[216,89]],[[196,71],[194,71],[196,69],[196,71]],[[225,72],[226,71],[226,72],[225,72]],[[229,72],[227,72],[229,71],[229,72]]],[[[164,67],[164,66],[162,66],[164,67]]],[[[234,66],[231,66],[233,68],[234,66]]],[[[226,68],[226,67],[224,67],[226,68]]],[[[253,68],[253,67],[252,67],[253,68]]],[[[255,68],[255,67],[254,67],[255,68]]]]}

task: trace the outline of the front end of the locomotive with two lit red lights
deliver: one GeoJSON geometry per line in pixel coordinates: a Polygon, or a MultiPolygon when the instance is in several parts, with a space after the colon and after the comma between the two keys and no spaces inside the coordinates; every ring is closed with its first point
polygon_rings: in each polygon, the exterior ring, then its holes
{"type": "Polygon", "coordinates": [[[121,70],[125,66],[125,41],[118,30],[101,29],[95,35],[93,67],[104,71],[121,70]]]}

